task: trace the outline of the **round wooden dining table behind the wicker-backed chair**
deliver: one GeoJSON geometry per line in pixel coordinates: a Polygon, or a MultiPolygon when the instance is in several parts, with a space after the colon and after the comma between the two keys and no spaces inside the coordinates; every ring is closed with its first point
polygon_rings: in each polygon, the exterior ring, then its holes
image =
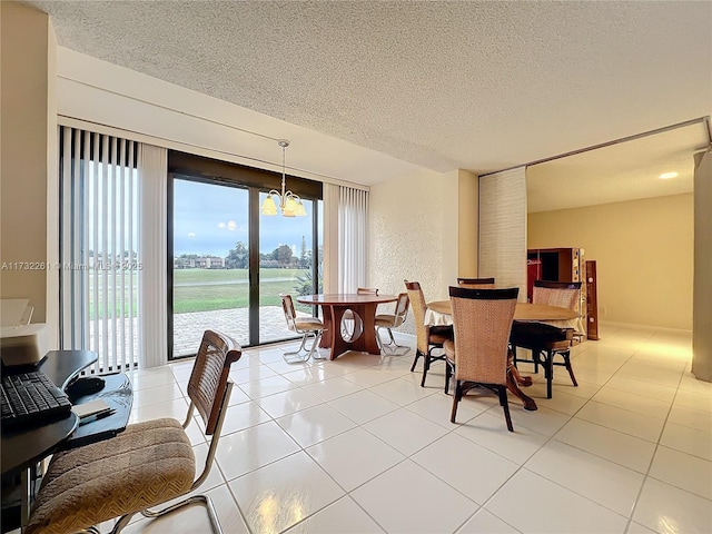
{"type": "MultiPolygon", "coordinates": [[[[573,309],[548,306],[546,304],[516,303],[516,308],[514,309],[514,320],[523,323],[536,322],[563,326],[567,322],[577,317],[578,314],[573,309]]],[[[451,301],[435,300],[427,303],[425,310],[425,324],[431,326],[452,325],[453,307],[451,306],[451,301]]],[[[537,408],[536,403],[532,397],[525,395],[524,392],[520,389],[520,384],[528,385],[531,382],[526,384],[517,383],[513,365],[510,363],[510,370],[507,372],[507,389],[522,400],[524,409],[535,411],[537,408]]]]}

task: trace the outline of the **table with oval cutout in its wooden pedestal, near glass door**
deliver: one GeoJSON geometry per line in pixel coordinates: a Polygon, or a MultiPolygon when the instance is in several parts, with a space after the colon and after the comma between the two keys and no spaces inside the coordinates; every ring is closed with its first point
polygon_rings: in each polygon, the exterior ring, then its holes
{"type": "Polygon", "coordinates": [[[395,303],[395,295],[307,295],[297,297],[297,303],[322,306],[324,316],[324,334],[319,347],[330,348],[329,359],[347,350],[360,350],[369,354],[380,354],[376,342],[376,308],[379,304],[395,303]],[[342,318],[350,309],[364,323],[360,336],[347,342],[342,337],[342,318]]]}

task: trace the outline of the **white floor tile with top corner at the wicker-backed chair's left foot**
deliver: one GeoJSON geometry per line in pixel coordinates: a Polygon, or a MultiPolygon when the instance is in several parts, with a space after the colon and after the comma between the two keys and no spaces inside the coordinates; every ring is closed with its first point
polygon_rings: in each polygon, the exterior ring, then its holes
{"type": "Polygon", "coordinates": [[[456,434],[442,437],[412,459],[478,504],[485,503],[520,467],[456,434]]]}

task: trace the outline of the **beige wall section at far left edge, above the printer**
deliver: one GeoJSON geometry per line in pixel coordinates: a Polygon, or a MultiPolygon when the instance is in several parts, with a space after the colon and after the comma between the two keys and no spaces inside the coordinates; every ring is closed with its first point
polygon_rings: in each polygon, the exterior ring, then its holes
{"type": "MultiPolygon", "coordinates": [[[[33,322],[56,319],[47,313],[48,179],[57,180],[57,113],[53,92],[55,38],[48,17],[32,8],[0,2],[0,297],[29,298],[33,322]],[[18,264],[16,269],[14,264],[18,264]],[[12,268],[7,268],[12,266],[12,268]]],[[[56,226],[56,219],[52,220],[56,226]]],[[[56,300],[56,299],[52,299],[56,300]]]]}

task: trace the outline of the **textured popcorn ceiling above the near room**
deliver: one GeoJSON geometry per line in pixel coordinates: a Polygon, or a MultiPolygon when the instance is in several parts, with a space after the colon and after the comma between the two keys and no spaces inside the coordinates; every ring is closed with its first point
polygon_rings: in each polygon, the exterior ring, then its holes
{"type": "Polygon", "coordinates": [[[712,111],[708,1],[24,3],[62,47],[436,171],[712,111]]]}

